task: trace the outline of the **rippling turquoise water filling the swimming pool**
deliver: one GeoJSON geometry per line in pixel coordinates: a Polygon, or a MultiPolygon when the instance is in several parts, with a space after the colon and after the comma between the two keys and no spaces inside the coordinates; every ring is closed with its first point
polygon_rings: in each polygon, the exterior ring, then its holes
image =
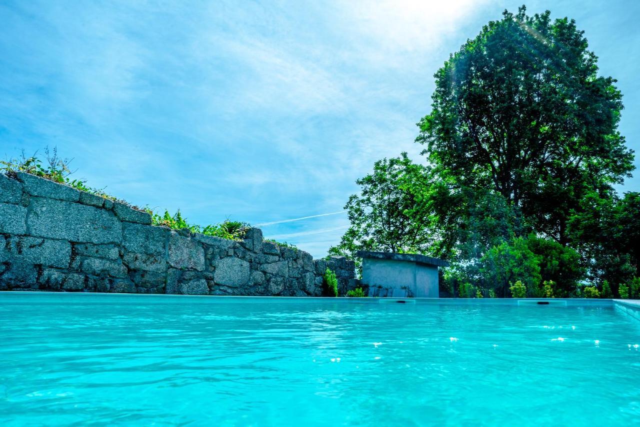
{"type": "Polygon", "coordinates": [[[0,424],[623,425],[610,306],[0,293],[0,424]]]}

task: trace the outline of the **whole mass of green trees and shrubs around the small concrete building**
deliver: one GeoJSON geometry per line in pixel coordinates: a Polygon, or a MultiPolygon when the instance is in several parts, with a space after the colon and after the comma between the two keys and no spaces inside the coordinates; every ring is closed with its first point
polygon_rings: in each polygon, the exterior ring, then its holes
{"type": "Polygon", "coordinates": [[[456,282],[498,294],[640,275],[640,196],[614,190],[634,169],[622,94],[597,63],[572,19],[522,6],[486,24],[435,74],[416,139],[428,166],[376,162],[332,251],[442,256],[456,282]]]}

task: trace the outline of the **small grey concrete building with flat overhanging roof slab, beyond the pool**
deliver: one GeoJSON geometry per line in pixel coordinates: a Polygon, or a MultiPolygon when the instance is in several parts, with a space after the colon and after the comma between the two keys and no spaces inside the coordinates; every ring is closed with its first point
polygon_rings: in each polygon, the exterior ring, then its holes
{"type": "Polygon", "coordinates": [[[449,263],[413,253],[358,251],[369,296],[438,298],[438,267],[449,263]]]}

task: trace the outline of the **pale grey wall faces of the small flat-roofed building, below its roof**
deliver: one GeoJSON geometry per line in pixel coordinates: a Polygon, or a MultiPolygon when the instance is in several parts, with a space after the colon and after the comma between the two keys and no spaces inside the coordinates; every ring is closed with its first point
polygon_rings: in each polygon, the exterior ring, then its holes
{"type": "Polygon", "coordinates": [[[400,289],[407,289],[407,296],[437,298],[438,267],[412,261],[381,260],[364,258],[362,260],[362,283],[369,286],[369,294],[376,295],[376,287],[390,289],[388,296],[396,296],[400,289]]]}

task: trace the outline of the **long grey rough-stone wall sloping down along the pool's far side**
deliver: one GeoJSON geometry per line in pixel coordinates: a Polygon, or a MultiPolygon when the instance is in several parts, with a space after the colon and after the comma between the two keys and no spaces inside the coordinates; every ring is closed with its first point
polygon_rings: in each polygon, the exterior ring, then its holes
{"type": "Polygon", "coordinates": [[[171,230],[124,203],[0,174],[0,290],[321,296],[326,267],[340,295],[356,287],[352,261],[313,260],[257,228],[240,242],[171,230]]]}

